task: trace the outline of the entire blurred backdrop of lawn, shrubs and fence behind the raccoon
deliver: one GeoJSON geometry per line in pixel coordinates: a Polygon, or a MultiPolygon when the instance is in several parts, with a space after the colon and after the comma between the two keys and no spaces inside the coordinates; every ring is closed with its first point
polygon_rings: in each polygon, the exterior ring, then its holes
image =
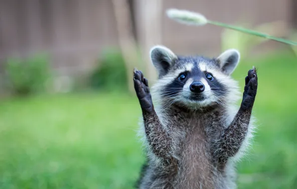
{"type": "Polygon", "coordinates": [[[242,90],[258,68],[258,129],[238,185],[297,188],[297,48],[181,25],[167,8],[297,41],[296,0],[0,0],[0,189],[132,189],[145,161],[133,68],[152,85],[157,44],[239,49],[242,90]]]}

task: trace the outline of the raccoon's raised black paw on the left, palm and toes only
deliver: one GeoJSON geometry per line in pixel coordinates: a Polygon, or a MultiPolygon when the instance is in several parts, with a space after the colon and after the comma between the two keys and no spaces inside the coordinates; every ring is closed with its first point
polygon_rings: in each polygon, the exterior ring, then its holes
{"type": "Polygon", "coordinates": [[[148,88],[148,80],[144,78],[141,71],[134,69],[134,88],[143,111],[151,112],[153,110],[151,95],[148,88]]]}

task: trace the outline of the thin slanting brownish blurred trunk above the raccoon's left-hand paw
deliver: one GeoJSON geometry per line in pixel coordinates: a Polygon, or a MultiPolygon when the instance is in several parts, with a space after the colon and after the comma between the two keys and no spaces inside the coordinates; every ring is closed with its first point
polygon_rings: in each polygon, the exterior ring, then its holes
{"type": "Polygon", "coordinates": [[[131,9],[128,0],[112,0],[117,22],[120,48],[126,63],[128,87],[134,93],[133,69],[138,62],[136,40],[133,35],[131,9]]]}

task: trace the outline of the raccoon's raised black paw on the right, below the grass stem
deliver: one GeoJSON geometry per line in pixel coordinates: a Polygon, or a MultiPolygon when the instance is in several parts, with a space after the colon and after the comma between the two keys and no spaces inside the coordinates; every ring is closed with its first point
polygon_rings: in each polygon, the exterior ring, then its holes
{"type": "Polygon", "coordinates": [[[245,87],[242,99],[242,107],[244,109],[253,107],[258,88],[258,76],[256,68],[249,70],[248,76],[245,78],[245,87]]]}

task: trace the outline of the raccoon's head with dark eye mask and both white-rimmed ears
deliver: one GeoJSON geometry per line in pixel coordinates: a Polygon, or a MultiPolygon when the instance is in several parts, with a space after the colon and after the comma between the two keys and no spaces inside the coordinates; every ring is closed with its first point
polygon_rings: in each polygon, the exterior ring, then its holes
{"type": "Polygon", "coordinates": [[[166,47],[155,46],[150,57],[159,77],[152,90],[165,105],[194,109],[224,105],[237,92],[237,83],[230,77],[240,58],[235,49],[209,59],[180,57],[166,47]]]}

